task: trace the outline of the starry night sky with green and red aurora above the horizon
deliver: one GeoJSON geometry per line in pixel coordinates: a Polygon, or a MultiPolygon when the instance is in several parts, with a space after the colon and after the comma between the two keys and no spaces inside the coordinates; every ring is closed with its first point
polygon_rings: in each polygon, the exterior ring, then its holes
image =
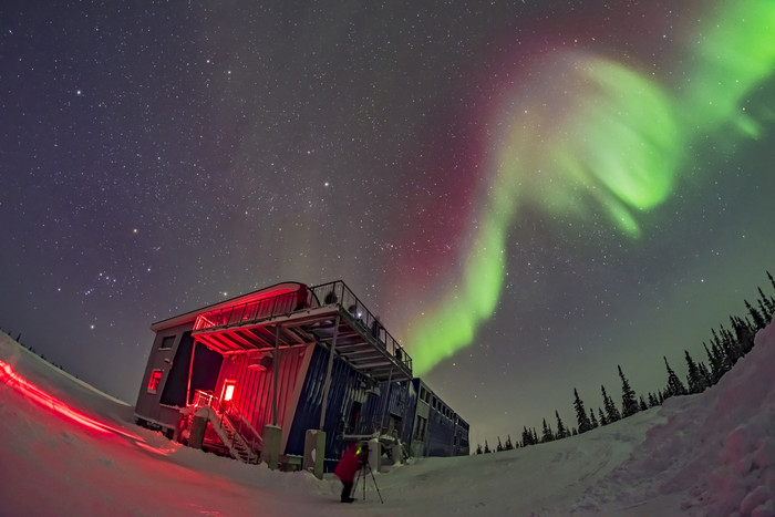
{"type": "Polygon", "coordinates": [[[775,270],[775,3],[0,6],[0,327],[134,403],[151,323],[342,279],[472,424],[684,373],[775,270]]]}

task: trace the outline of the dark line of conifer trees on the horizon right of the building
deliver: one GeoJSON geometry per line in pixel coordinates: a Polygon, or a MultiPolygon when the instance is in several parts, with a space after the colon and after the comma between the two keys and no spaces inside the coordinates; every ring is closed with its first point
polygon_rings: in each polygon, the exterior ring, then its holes
{"type": "MultiPolygon", "coordinates": [[[[775,289],[775,279],[769,275],[769,271],[767,271],[767,278],[775,289]]],[[[772,320],[773,314],[775,314],[775,298],[766,296],[761,287],[758,288],[758,294],[760,298],[756,300],[755,306],[751,304],[748,300],[743,300],[747,309],[747,314],[745,317],[731,316],[728,324],[722,324],[717,330],[711,329],[711,339],[702,343],[705,349],[705,361],[698,362],[690,355],[689,351],[683,351],[683,359],[686,361],[688,366],[685,383],[670,366],[668,358],[663,356],[664,366],[668,371],[666,384],[645,395],[638,395],[630,386],[630,382],[627,380],[621,366],[617,366],[619,370],[619,379],[621,380],[620,405],[617,405],[613,399],[608,394],[606,386],[601,385],[602,406],[598,406],[597,411],[593,407],[587,411],[578,391],[574,387],[575,426],[568,428],[562,422],[559,411],[555,411],[554,420],[547,422],[547,420],[544,418],[540,432],[537,432],[536,427],[524,426],[520,441],[512,442],[512,435],[509,434],[505,444],[500,442],[500,436],[498,436],[498,445],[495,451],[489,447],[489,444],[485,440],[484,448],[482,445],[477,444],[476,454],[509,451],[517,447],[527,447],[528,445],[561,440],[586,433],[601,425],[608,425],[621,418],[627,418],[639,411],[645,411],[650,407],[661,405],[671,396],[702,393],[710,386],[716,384],[743,355],[751,352],[754,347],[754,337],[756,332],[764,329],[772,320]],[[552,423],[555,425],[554,428],[552,423]]]]}

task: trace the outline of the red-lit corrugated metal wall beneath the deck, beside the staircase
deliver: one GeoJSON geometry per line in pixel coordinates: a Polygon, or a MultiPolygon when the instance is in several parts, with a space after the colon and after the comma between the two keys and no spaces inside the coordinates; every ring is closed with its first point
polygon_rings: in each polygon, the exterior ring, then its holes
{"type": "MultiPolygon", "coordinates": [[[[280,350],[280,369],[277,381],[277,425],[282,425],[289,400],[293,394],[299,366],[304,356],[304,348],[290,348],[280,350]]],[[[224,360],[224,365],[218,378],[216,395],[220,396],[224,381],[236,381],[234,403],[239,407],[246,418],[259,433],[266,424],[272,424],[272,369],[277,361],[272,361],[272,366],[266,370],[259,368],[248,368],[251,362],[256,362],[256,354],[230,355],[224,360]]]]}

